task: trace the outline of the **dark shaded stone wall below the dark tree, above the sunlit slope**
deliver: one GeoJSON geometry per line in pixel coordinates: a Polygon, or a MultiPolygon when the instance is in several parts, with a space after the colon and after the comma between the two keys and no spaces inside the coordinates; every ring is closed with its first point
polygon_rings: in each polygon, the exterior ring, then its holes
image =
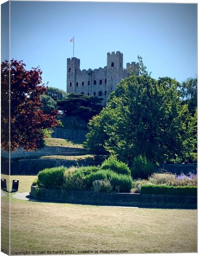
{"type": "Polygon", "coordinates": [[[86,130],[62,129],[54,128],[52,133],[53,138],[60,138],[65,140],[74,140],[83,143],[86,140],[86,130]]]}

